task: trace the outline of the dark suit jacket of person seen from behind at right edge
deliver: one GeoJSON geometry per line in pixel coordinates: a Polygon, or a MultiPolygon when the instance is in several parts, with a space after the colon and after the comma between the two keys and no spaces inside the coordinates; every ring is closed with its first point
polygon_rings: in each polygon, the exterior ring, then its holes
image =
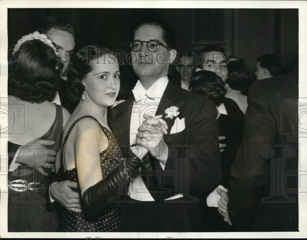
{"type": "Polygon", "coordinates": [[[298,230],[298,71],[255,81],[231,167],[229,214],[240,231],[298,230]]]}

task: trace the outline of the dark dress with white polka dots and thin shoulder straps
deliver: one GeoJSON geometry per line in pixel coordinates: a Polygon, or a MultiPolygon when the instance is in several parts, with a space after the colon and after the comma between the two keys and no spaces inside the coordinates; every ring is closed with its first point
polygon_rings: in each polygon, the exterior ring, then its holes
{"type": "MultiPolygon", "coordinates": [[[[76,124],[77,121],[82,118],[79,118],[72,124],[72,126],[68,130],[68,133],[66,134],[63,146],[65,146],[65,141],[67,140],[67,137],[73,126],[76,124]]],[[[101,125],[100,127],[109,140],[108,148],[100,153],[101,170],[103,173],[103,178],[105,178],[111,171],[113,171],[118,166],[116,161],[116,154],[119,154],[119,142],[112,134],[112,132],[110,132],[107,128],[104,128],[101,125]]],[[[76,168],[64,171],[64,175],[66,179],[73,182],[78,182],[78,174],[76,168]]],[[[80,189],[72,190],[80,192],[80,189]]],[[[103,212],[94,216],[87,215],[83,212],[75,213],[67,209],[60,215],[61,220],[58,229],[59,232],[117,232],[119,222],[119,203],[109,203],[108,206],[103,210],[103,212]]]]}

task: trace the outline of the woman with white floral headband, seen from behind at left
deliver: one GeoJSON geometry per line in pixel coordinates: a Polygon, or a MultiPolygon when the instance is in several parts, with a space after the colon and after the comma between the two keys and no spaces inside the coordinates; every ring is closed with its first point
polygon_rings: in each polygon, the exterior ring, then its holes
{"type": "Polygon", "coordinates": [[[46,210],[45,199],[47,181],[60,166],[63,128],[70,116],[50,102],[62,67],[57,55],[47,36],[34,32],[17,42],[9,59],[9,140],[22,146],[37,145],[37,149],[32,156],[25,156],[22,148],[15,149],[16,158],[9,166],[8,232],[50,232],[58,226],[56,213],[46,210]],[[46,151],[54,157],[45,163],[38,160],[45,149],[37,139],[50,140],[46,151]]]}

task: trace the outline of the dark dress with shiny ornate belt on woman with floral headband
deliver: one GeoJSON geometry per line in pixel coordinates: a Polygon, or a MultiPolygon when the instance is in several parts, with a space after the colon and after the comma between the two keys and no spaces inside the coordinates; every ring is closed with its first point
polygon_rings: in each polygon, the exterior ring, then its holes
{"type": "MultiPolygon", "coordinates": [[[[63,136],[62,107],[56,105],[56,118],[40,139],[54,140],[55,144],[45,148],[60,151],[63,136]]],[[[22,153],[21,153],[22,154],[22,153]]],[[[42,154],[37,148],[33,153],[42,154]]],[[[18,155],[18,154],[17,154],[18,155]]],[[[8,175],[8,232],[55,232],[58,227],[56,212],[46,210],[46,197],[48,197],[48,179],[52,175],[51,169],[45,169],[48,176],[20,164],[14,172],[8,175]]],[[[35,164],[35,159],[33,159],[35,164]]]]}

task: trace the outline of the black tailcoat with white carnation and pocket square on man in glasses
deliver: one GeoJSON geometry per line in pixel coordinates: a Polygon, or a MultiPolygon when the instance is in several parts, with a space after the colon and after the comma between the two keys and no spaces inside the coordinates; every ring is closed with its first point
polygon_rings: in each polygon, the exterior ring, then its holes
{"type": "MultiPolygon", "coordinates": [[[[133,104],[133,97],[111,109],[110,125],[118,136],[121,146],[130,145],[130,112],[133,104]]],[[[190,221],[195,225],[200,224],[194,221],[195,216],[200,215],[198,200],[194,199],[192,191],[212,191],[221,180],[220,149],[218,140],[218,124],[216,121],[217,111],[212,101],[203,96],[181,89],[174,83],[168,83],[157,114],[163,114],[168,124],[168,134],[164,140],[169,147],[169,155],[164,171],[156,160],[157,191],[153,198],[161,201],[173,196],[180,191],[184,194],[190,221]],[[175,134],[169,134],[174,126],[176,118],[165,118],[165,109],[170,106],[177,106],[179,115],[177,118],[185,118],[185,129],[175,134]],[[172,175],[180,163],[188,163],[188,170],[172,175]],[[159,173],[160,171],[160,173],[159,173]],[[161,172],[169,172],[163,175],[161,172]],[[188,179],[187,179],[188,176],[188,179]],[[163,193],[164,192],[164,193],[163,193]],[[170,192],[170,193],[169,193],[170,192]],[[157,196],[158,195],[158,196],[157,196]],[[196,200],[196,201],[195,201],[196,200]]],[[[140,123],[141,124],[141,123],[140,123]]],[[[123,155],[127,155],[128,148],[123,148],[123,155]]],[[[153,158],[152,156],[148,156],[153,158]]],[[[184,165],[180,165],[184,168],[184,165]]],[[[144,174],[144,173],[143,173],[144,174]]],[[[150,189],[149,189],[150,190],[150,189]]]]}

